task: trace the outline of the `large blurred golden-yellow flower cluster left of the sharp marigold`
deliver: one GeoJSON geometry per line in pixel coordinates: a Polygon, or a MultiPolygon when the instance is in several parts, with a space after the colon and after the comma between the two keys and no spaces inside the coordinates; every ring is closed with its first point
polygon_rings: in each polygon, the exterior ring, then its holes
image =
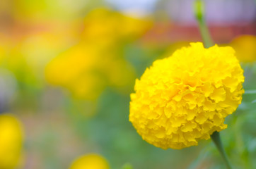
{"type": "Polygon", "coordinates": [[[105,87],[127,91],[134,69],[124,58],[124,44],[150,22],[98,8],[86,15],[81,42],[54,58],[45,69],[47,82],[68,89],[78,99],[97,99],[105,87]]]}

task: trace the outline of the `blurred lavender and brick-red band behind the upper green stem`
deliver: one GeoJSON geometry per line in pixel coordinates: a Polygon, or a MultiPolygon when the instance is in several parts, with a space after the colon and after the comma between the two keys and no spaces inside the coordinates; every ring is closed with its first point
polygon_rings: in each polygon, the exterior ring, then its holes
{"type": "MultiPolygon", "coordinates": [[[[160,1],[156,13],[167,13],[164,22],[144,37],[146,42],[202,41],[193,13],[193,1],[160,1]]],[[[205,1],[206,23],[216,44],[229,43],[239,35],[256,35],[256,2],[253,0],[205,1]]],[[[163,20],[163,18],[162,18],[163,20]]]]}

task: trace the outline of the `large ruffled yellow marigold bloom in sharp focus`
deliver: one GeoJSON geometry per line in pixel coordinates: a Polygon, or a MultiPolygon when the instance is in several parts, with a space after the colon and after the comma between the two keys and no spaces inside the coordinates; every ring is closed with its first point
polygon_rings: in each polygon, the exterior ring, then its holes
{"type": "Polygon", "coordinates": [[[241,103],[243,69],[230,47],[200,42],[157,60],[136,80],[129,120],[142,139],[162,149],[195,146],[227,127],[241,103]]]}

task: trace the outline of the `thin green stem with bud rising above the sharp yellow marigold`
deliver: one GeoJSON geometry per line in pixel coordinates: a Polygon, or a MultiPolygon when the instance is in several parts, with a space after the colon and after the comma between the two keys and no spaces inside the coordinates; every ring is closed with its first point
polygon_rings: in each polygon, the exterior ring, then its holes
{"type": "Polygon", "coordinates": [[[204,2],[202,0],[194,1],[194,16],[197,19],[204,46],[206,48],[214,46],[214,42],[211,39],[208,27],[206,26],[206,21],[204,18],[204,2]]]}

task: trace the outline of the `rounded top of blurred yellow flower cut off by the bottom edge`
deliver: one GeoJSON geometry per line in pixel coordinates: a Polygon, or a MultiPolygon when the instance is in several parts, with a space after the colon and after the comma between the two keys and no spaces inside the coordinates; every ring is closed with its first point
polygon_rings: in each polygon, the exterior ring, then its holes
{"type": "Polygon", "coordinates": [[[109,169],[105,158],[98,154],[88,154],[77,158],[69,169],[109,169]]]}

